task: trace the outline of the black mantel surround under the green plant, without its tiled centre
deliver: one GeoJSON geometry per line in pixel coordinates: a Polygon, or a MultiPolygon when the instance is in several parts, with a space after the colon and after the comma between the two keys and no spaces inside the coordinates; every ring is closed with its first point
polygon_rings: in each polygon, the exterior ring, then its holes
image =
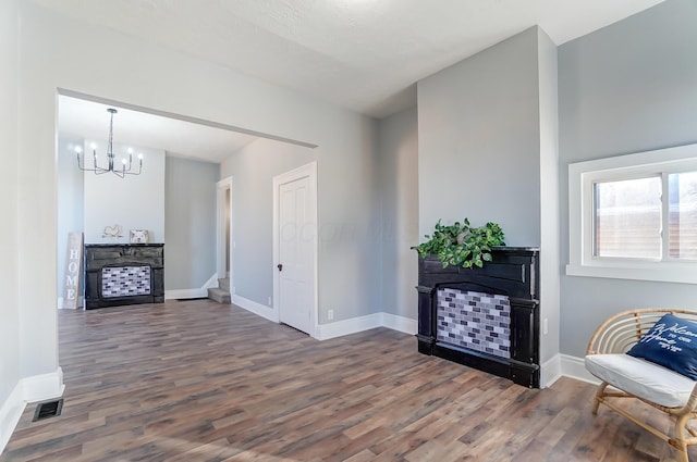
{"type": "Polygon", "coordinates": [[[418,351],[539,388],[539,249],[496,247],[492,257],[481,269],[443,269],[435,255],[419,258],[418,351]],[[440,288],[506,296],[511,305],[510,358],[438,339],[440,288]]]}

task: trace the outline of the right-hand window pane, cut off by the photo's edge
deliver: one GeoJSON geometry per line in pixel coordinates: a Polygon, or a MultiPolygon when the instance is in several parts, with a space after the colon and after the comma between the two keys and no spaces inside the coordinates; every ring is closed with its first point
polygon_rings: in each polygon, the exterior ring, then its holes
{"type": "Polygon", "coordinates": [[[697,172],[668,175],[670,257],[697,259],[697,172]]]}

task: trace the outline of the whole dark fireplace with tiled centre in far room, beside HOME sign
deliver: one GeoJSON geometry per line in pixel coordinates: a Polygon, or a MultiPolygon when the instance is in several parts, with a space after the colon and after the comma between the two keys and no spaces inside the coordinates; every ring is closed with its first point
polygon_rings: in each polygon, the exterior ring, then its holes
{"type": "Polygon", "coordinates": [[[164,301],[163,244],[85,245],[85,308],[164,301]]]}

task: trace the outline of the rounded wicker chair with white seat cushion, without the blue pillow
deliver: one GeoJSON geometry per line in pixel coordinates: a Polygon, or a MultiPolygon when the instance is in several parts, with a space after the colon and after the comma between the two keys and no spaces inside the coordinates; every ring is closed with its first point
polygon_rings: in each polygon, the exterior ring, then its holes
{"type": "Polygon", "coordinates": [[[640,309],[617,313],[603,322],[590,338],[586,369],[602,380],[596,394],[594,414],[598,413],[601,403],[606,404],[676,448],[680,460],[688,462],[687,446],[697,444],[697,430],[688,425],[689,421],[697,419],[697,382],[624,354],[667,313],[697,321],[697,311],[678,309],[640,309]],[[615,374],[616,371],[608,373],[608,367],[621,371],[619,374],[615,374]],[[621,379],[616,378],[619,375],[622,375],[621,379]],[[639,399],[665,412],[675,419],[672,432],[665,434],[639,420],[620,405],[620,400],[615,398],[639,399]]]}

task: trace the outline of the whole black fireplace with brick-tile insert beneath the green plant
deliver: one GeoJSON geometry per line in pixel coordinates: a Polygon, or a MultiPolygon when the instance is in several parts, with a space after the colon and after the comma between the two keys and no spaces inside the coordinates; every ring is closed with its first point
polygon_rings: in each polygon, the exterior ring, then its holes
{"type": "Polygon", "coordinates": [[[419,259],[418,351],[539,387],[539,250],[497,247],[484,267],[419,259]]]}

